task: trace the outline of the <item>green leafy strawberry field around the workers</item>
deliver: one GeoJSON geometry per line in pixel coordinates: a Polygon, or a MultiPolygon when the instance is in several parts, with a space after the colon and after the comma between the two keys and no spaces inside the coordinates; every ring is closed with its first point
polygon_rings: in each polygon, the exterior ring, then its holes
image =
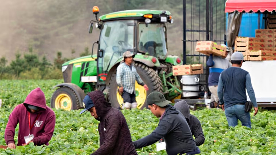
{"type": "MultiPolygon", "coordinates": [[[[40,87],[45,93],[47,105],[50,106],[53,86],[62,80],[0,80],[0,145],[6,145],[4,140],[5,127],[12,109],[22,102],[28,93],[40,87]]],[[[3,150],[0,154],[91,154],[99,148],[98,121],[90,113],[79,115],[81,110],[55,110],[55,131],[49,146],[18,146],[16,149],[3,150]]],[[[151,133],[158,125],[156,118],[149,110],[123,110],[132,140],[135,141],[151,133]]],[[[253,117],[252,129],[242,127],[229,128],[224,112],[221,109],[203,109],[191,111],[202,123],[205,143],[200,146],[201,154],[276,154],[276,113],[260,111],[253,117]]],[[[18,126],[16,128],[17,143],[18,126]]],[[[138,154],[166,154],[156,152],[156,145],[137,149],[138,154]]]]}

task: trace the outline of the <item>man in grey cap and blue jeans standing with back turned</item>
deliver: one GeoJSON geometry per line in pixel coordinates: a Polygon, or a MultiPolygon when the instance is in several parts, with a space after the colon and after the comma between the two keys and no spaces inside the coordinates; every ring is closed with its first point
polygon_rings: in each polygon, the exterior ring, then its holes
{"type": "Polygon", "coordinates": [[[250,75],[247,71],[241,69],[244,56],[240,52],[235,52],[231,56],[232,67],[225,69],[219,76],[218,98],[229,126],[236,126],[238,119],[241,124],[251,128],[250,114],[245,112],[245,103],[247,100],[246,91],[254,106],[254,116],[258,113],[254,90],[251,84],[250,75]]]}

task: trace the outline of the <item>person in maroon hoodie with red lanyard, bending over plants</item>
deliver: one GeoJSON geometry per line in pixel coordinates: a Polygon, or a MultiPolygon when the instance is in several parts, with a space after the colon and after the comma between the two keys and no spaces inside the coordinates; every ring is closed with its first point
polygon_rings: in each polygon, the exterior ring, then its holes
{"type": "Polygon", "coordinates": [[[15,149],[14,132],[17,124],[17,146],[49,145],[55,129],[55,113],[46,106],[46,99],[40,88],[35,88],[28,94],[24,103],[17,105],[9,115],[5,129],[5,141],[9,148],[15,149]]]}

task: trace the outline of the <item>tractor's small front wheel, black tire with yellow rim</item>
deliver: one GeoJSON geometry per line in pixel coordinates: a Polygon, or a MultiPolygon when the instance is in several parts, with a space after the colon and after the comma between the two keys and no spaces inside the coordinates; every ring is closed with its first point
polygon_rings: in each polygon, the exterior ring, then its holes
{"type": "Polygon", "coordinates": [[[75,110],[79,109],[79,99],[71,88],[60,87],[52,95],[51,108],[64,109],[64,110],[75,110]]]}

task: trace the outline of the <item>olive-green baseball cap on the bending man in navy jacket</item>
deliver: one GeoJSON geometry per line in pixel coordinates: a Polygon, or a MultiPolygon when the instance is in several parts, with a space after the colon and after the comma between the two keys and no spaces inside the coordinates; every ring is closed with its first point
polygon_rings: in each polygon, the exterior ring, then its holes
{"type": "Polygon", "coordinates": [[[164,107],[171,102],[166,100],[165,96],[160,92],[152,92],[147,96],[147,104],[156,104],[160,107],[164,107]]]}

